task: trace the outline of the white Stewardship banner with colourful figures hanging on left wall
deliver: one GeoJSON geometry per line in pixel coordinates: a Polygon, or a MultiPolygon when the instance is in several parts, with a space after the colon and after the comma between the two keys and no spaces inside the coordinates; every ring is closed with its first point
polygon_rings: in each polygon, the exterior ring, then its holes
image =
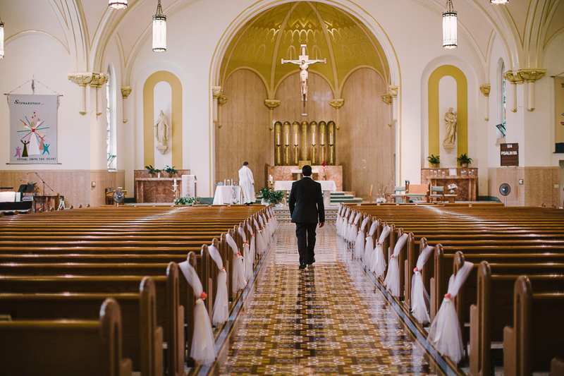
{"type": "Polygon", "coordinates": [[[57,163],[58,95],[8,95],[10,163],[57,163]]]}

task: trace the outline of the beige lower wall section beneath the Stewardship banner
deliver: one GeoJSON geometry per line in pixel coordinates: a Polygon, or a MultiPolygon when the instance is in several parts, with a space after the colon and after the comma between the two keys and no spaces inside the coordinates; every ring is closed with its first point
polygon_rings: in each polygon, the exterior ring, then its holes
{"type": "MultiPolygon", "coordinates": [[[[37,174],[46,183],[45,192],[51,192],[49,186],[54,193],[63,195],[66,207],[71,205],[74,207],[78,207],[78,205],[86,206],[88,204],[91,206],[103,205],[105,189],[123,186],[125,182],[124,171],[42,170],[37,174]],[[96,182],[95,188],[91,186],[92,181],[96,182]]],[[[13,187],[14,190],[18,190],[20,184],[27,183],[20,181],[21,179],[28,179],[32,183],[37,183],[39,192],[43,193],[43,183],[35,173],[21,170],[0,171],[0,186],[13,187]]],[[[128,193],[129,195],[130,193],[128,193]]]]}

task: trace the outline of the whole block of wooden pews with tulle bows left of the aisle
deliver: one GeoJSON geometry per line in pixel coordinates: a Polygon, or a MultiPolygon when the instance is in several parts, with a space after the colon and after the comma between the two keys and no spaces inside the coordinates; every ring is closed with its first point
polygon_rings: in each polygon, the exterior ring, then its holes
{"type": "Polygon", "coordinates": [[[208,364],[202,327],[218,332],[275,230],[262,205],[1,217],[0,373],[183,376],[208,364]]]}

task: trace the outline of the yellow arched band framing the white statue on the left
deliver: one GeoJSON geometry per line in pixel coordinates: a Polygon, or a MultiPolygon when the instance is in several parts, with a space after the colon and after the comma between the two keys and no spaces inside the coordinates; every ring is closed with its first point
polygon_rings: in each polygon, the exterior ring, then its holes
{"type": "Polygon", "coordinates": [[[170,72],[155,72],[147,78],[143,86],[143,154],[145,166],[154,164],[154,86],[161,81],[172,89],[172,165],[182,169],[182,84],[170,72]]]}

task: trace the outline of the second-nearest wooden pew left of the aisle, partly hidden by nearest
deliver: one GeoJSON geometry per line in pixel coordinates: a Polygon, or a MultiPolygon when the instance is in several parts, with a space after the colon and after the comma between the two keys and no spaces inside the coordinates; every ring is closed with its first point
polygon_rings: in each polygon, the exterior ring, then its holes
{"type": "Polygon", "coordinates": [[[12,321],[96,320],[106,298],[121,308],[123,356],[141,375],[163,375],[163,329],[157,327],[154,281],[142,279],[138,293],[0,293],[0,315],[12,321]]]}

